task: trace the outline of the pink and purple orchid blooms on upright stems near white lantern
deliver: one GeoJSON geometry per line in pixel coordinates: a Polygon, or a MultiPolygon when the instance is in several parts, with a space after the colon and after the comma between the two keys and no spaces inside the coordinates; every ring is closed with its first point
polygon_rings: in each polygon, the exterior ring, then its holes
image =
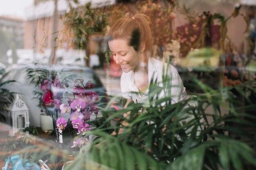
{"type": "Polygon", "coordinates": [[[83,135],[81,139],[74,141],[72,147],[81,146],[89,141],[86,131],[90,130],[90,125],[87,123],[90,120],[90,115],[99,113],[99,108],[95,104],[99,100],[99,95],[92,91],[94,84],[90,80],[85,84],[83,84],[83,79],[74,80],[73,90],[65,91],[64,86],[69,87],[68,84],[61,83],[56,77],[44,80],[40,86],[44,92],[42,99],[45,110],[42,111],[50,113],[49,115],[53,119],[56,141],[65,128],[72,127],[73,130],[70,131],[77,131],[76,134],[83,135]],[[63,93],[69,93],[69,91],[74,97],[66,97],[67,103],[63,103],[63,93]],[[58,117],[58,113],[61,114],[60,117],[58,117]],[[70,114],[68,120],[62,116],[65,113],[70,114]],[[72,126],[68,126],[68,124],[72,124],[72,126]]]}

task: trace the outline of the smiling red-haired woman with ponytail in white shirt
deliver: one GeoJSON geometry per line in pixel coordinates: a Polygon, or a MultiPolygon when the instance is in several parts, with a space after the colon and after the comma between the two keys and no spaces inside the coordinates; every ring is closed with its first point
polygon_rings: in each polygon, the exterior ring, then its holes
{"type": "MultiPolygon", "coordinates": [[[[171,81],[171,104],[186,98],[186,90],[177,70],[152,57],[153,40],[149,22],[146,15],[135,14],[132,18],[118,20],[107,36],[114,60],[123,70],[121,91],[127,99],[126,106],[132,101],[146,102],[151,79],[163,87],[163,67],[167,68],[165,74],[171,81]]],[[[163,89],[159,98],[165,95],[166,89],[163,89]]]]}

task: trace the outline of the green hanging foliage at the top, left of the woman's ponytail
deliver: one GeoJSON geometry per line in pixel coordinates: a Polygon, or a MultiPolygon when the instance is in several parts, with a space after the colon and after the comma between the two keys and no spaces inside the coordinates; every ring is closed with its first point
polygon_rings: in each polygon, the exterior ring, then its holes
{"type": "Polygon", "coordinates": [[[107,24],[108,6],[92,7],[91,2],[85,5],[78,1],[70,3],[70,11],[65,13],[64,24],[68,34],[71,34],[76,49],[86,49],[88,38],[94,33],[102,33],[107,24]]]}

